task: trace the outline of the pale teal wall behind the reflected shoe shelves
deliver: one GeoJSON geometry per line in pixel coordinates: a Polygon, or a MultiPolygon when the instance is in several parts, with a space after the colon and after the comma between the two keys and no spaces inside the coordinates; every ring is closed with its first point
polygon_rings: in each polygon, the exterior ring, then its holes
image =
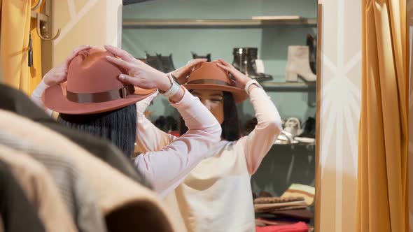
{"type": "MultiPolygon", "coordinates": [[[[168,0],[146,1],[123,7],[123,21],[133,20],[239,20],[253,16],[300,15],[316,19],[316,0],[168,0]]],[[[275,82],[285,82],[288,45],[305,45],[307,34],[316,34],[316,25],[293,26],[271,25],[265,27],[123,27],[122,46],[134,57],[172,53],[175,68],[192,59],[191,51],[198,55],[211,53],[211,59],[232,62],[232,48],[258,48],[258,57],[264,61],[265,73],[273,76],[275,82]]],[[[279,89],[276,89],[279,90],[279,89]]],[[[304,122],[314,117],[315,91],[303,89],[300,92],[268,92],[276,103],[281,117],[297,117],[304,122]],[[310,105],[309,106],[309,102],[310,105]]],[[[314,90],[314,89],[313,89],[314,90]]],[[[155,99],[152,119],[160,115],[171,115],[173,108],[166,99],[155,99]]],[[[239,107],[241,124],[254,117],[249,101],[239,107]]]]}

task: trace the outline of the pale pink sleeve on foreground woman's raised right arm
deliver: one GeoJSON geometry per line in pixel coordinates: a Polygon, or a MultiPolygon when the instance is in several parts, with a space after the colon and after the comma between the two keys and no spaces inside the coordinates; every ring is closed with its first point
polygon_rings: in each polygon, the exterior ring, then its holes
{"type": "MultiPolygon", "coordinates": [[[[134,164],[153,183],[155,191],[165,197],[173,191],[221,139],[221,125],[214,115],[185,90],[183,99],[173,103],[188,126],[187,133],[158,152],[139,155],[134,164]]],[[[148,139],[151,139],[147,136],[148,139]]]]}

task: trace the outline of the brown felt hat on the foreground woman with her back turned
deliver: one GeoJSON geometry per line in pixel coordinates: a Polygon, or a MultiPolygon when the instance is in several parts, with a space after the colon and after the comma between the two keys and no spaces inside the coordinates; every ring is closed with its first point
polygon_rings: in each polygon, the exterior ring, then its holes
{"type": "Polygon", "coordinates": [[[67,82],[43,92],[44,105],[58,113],[86,115],[130,106],[155,92],[118,80],[127,72],[107,61],[106,56],[115,57],[94,48],[79,52],[69,64],[67,82]]]}

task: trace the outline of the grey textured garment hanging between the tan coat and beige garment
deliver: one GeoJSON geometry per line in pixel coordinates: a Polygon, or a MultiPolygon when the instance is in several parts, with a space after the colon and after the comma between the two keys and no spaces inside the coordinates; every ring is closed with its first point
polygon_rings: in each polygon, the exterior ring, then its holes
{"type": "Polygon", "coordinates": [[[97,198],[84,174],[78,170],[70,157],[64,157],[59,150],[47,152],[41,147],[27,143],[18,137],[0,131],[0,144],[25,152],[43,164],[54,178],[66,208],[69,210],[80,232],[104,232],[106,226],[97,198]]]}

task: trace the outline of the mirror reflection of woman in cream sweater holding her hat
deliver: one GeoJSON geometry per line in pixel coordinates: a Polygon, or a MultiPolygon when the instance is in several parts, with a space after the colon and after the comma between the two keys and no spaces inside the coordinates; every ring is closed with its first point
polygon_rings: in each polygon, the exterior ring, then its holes
{"type": "MultiPolygon", "coordinates": [[[[168,200],[178,204],[174,206],[179,207],[177,214],[188,231],[255,231],[250,179],[281,132],[279,113],[258,83],[222,60],[195,68],[185,86],[218,119],[222,140],[168,200]],[[241,88],[230,86],[226,72],[241,88]],[[258,124],[248,136],[240,138],[235,102],[246,99],[246,93],[258,124]]],[[[161,150],[177,139],[145,118],[143,113],[151,99],[137,103],[137,142],[146,151],[161,150]]]]}

